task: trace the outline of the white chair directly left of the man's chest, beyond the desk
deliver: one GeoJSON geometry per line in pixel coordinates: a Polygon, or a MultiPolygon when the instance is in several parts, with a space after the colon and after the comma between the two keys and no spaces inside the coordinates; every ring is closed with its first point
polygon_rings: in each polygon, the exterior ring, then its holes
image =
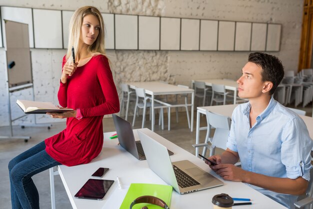
{"type": "Polygon", "coordinates": [[[206,111],[207,131],[204,143],[193,144],[194,148],[203,147],[202,155],[205,156],[206,149],[210,149],[209,156],[215,154],[215,147],[226,150],[226,142],[230,130],[230,118],[224,115],[219,115],[206,111]],[[213,138],[210,138],[211,127],[215,128],[213,138]],[[210,142],[211,145],[208,144],[210,142]]]}

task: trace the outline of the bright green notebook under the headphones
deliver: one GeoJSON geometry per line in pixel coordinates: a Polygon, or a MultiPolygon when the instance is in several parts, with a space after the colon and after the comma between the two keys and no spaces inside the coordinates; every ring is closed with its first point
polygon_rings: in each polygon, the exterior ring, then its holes
{"type": "MultiPolygon", "coordinates": [[[[119,209],[129,209],[130,203],[137,197],[143,195],[156,196],[162,199],[168,206],[170,206],[171,192],[173,190],[172,186],[161,185],[161,184],[150,184],[150,183],[132,183],[121,203],[119,209]]],[[[135,204],[132,209],[140,209],[141,207],[147,205],[149,209],[159,209],[160,206],[148,204],[148,203],[138,203],[135,204]],[[150,206],[149,206],[150,205],[150,206]]]]}

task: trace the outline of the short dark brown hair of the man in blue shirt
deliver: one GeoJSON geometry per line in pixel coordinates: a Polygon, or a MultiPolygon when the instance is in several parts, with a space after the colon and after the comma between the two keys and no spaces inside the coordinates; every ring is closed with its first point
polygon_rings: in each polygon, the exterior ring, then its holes
{"type": "Polygon", "coordinates": [[[249,54],[248,62],[252,62],[262,68],[261,75],[263,82],[270,81],[273,83],[273,87],[269,91],[269,94],[272,95],[284,75],[281,61],[273,55],[254,52],[249,54]]]}

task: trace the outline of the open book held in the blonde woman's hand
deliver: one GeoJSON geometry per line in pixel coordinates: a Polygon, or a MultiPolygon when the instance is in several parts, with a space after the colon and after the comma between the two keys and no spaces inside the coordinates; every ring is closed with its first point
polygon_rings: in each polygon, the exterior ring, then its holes
{"type": "Polygon", "coordinates": [[[51,102],[35,102],[29,100],[16,100],[16,104],[24,111],[24,113],[44,114],[47,112],[67,112],[73,109],[62,108],[53,105],[51,102]]]}

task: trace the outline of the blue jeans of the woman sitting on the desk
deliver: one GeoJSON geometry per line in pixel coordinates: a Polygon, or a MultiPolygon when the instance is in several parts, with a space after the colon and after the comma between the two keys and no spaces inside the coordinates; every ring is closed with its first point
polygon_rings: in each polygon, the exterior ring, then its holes
{"type": "Polygon", "coordinates": [[[44,141],[14,157],[8,163],[12,209],[39,208],[39,195],[31,176],[60,164],[45,152],[44,141]]]}

